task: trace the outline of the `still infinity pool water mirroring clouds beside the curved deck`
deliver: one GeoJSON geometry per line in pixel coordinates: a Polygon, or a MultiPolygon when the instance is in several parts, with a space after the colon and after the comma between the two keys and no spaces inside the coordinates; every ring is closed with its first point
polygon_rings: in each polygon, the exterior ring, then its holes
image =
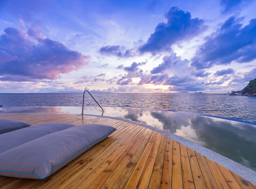
{"type": "MultiPolygon", "coordinates": [[[[161,128],[189,139],[256,171],[256,127],[253,124],[209,116],[157,109],[103,107],[104,115],[161,128]]],[[[81,114],[81,107],[2,107],[6,112],[81,114]]],[[[101,115],[99,107],[85,107],[85,114],[101,115]]]]}

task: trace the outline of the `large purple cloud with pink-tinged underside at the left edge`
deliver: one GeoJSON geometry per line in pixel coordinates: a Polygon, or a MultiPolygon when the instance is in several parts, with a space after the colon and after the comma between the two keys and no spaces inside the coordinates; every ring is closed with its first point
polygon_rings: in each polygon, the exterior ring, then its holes
{"type": "Polygon", "coordinates": [[[8,27],[0,36],[0,80],[56,80],[88,65],[89,56],[46,38],[39,28],[8,27]]]}

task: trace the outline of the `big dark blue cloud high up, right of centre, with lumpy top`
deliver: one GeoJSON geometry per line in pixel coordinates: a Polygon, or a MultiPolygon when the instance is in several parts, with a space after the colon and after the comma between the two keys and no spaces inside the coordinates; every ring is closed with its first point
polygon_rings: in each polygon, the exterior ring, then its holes
{"type": "Polygon", "coordinates": [[[159,23],[146,43],[138,48],[142,54],[150,52],[155,55],[160,51],[170,51],[172,44],[192,39],[206,28],[203,20],[191,19],[189,12],[178,7],[171,7],[169,12],[164,14],[164,18],[167,23],[159,23]]]}

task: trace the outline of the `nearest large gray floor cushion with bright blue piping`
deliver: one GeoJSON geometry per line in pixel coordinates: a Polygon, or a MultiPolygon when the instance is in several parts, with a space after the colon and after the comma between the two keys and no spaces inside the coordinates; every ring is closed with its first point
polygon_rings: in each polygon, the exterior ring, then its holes
{"type": "Polygon", "coordinates": [[[44,179],[115,130],[100,124],[81,124],[33,139],[0,154],[0,175],[44,179]]]}

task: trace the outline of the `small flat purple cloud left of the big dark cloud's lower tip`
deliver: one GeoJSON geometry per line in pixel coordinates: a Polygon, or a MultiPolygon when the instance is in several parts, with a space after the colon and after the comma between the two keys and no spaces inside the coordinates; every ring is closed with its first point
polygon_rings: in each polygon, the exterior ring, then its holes
{"type": "Polygon", "coordinates": [[[104,46],[100,48],[100,54],[118,56],[119,58],[128,58],[134,56],[133,49],[130,50],[124,46],[104,46]]]}

